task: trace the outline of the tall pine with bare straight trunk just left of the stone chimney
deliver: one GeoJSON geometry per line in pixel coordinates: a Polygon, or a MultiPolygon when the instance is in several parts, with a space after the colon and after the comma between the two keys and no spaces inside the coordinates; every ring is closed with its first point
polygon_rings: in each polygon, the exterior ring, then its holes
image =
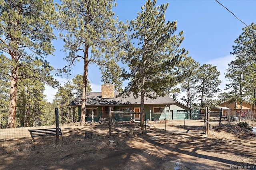
{"type": "Polygon", "coordinates": [[[88,65],[96,63],[101,67],[110,58],[124,55],[127,26],[114,18],[113,5],[116,6],[114,0],[61,0],[57,7],[57,28],[66,32],[60,36],[68,53],[68,65],[62,71],[68,72],[76,60],[84,60],[80,124],[85,124],[88,65]]]}

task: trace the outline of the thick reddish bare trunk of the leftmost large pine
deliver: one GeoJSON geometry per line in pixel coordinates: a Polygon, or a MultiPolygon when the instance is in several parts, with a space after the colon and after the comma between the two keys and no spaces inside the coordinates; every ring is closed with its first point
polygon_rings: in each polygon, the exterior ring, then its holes
{"type": "Polygon", "coordinates": [[[17,99],[18,67],[12,68],[10,105],[7,128],[15,128],[16,99],[17,99]]]}

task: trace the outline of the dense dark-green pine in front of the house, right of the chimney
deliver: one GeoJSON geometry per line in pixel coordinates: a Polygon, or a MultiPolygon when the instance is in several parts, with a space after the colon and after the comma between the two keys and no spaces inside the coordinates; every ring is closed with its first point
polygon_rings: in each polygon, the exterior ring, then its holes
{"type": "Polygon", "coordinates": [[[124,72],[125,79],[130,83],[124,89],[124,94],[140,96],[141,127],[144,133],[144,98],[156,98],[168,93],[182,80],[174,70],[186,55],[186,50],[180,48],[184,39],[182,32],[178,35],[176,21],[166,22],[165,12],[168,4],[155,6],[156,0],[147,0],[141,7],[141,12],[130,22],[131,39],[138,41],[136,47],[130,44],[127,56],[123,59],[128,63],[130,72],[124,72]]]}

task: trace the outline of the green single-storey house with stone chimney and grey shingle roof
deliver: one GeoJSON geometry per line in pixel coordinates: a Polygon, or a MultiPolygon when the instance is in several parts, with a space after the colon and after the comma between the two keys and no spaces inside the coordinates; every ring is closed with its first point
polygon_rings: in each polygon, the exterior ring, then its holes
{"type": "MultiPolygon", "coordinates": [[[[108,108],[112,111],[123,111],[125,113],[113,115],[118,118],[118,121],[130,121],[135,119],[140,120],[140,114],[127,113],[127,112],[140,112],[140,97],[137,99],[130,95],[126,97],[118,97],[120,92],[114,92],[114,85],[103,84],[101,86],[101,92],[89,92],[86,93],[86,121],[98,121],[99,117],[108,118],[108,108]]],[[[75,108],[78,107],[78,121],[81,117],[81,105],[82,105],[82,95],[79,95],[70,103],[72,107],[72,117],[73,121],[75,113],[75,108]]],[[[144,113],[146,119],[153,120],[153,117],[160,118],[161,113],[173,112],[189,112],[191,108],[179,107],[183,105],[172,100],[168,95],[164,97],[158,97],[156,99],[145,98],[144,100],[144,113]],[[175,106],[176,105],[176,106],[175,106]],[[167,108],[167,109],[166,109],[167,108]]]]}

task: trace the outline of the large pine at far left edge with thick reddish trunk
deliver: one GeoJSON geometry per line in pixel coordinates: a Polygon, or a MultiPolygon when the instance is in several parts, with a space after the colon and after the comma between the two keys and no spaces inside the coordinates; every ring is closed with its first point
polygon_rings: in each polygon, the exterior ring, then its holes
{"type": "Polygon", "coordinates": [[[0,51],[12,60],[7,128],[15,127],[18,79],[33,77],[52,87],[57,83],[50,76],[52,68],[44,59],[54,51],[51,44],[55,38],[51,28],[54,16],[52,0],[0,0],[0,51]],[[21,67],[34,74],[19,74],[21,67]]]}

